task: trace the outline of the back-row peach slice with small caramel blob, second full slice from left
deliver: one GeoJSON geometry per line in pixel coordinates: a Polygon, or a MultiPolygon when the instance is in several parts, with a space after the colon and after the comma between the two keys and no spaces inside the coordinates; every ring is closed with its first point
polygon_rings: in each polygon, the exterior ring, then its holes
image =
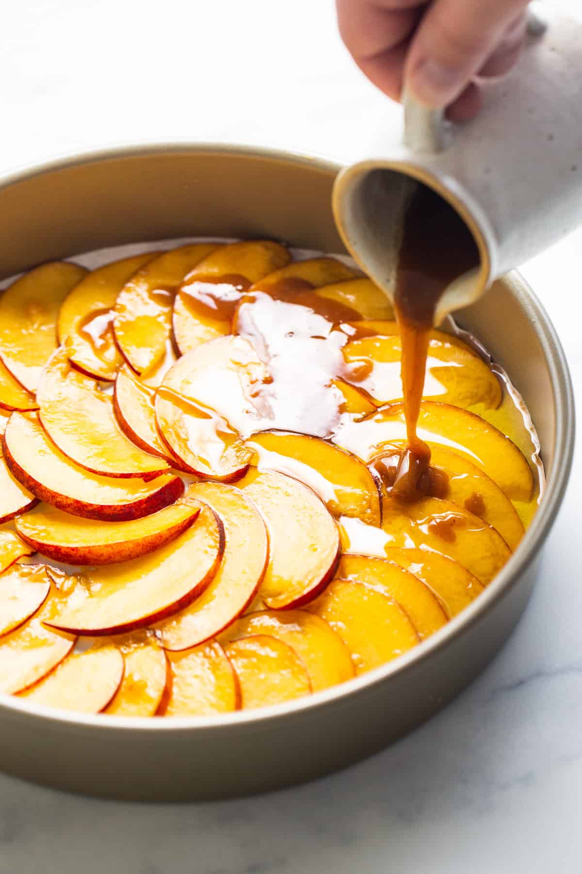
{"type": "Polygon", "coordinates": [[[113,307],[136,270],[154,258],[134,255],[98,267],[65,297],[58,313],[58,342],[66,345],[75,367],[95,379],[112,380],[123,363],[113,340],[113,307]]]}

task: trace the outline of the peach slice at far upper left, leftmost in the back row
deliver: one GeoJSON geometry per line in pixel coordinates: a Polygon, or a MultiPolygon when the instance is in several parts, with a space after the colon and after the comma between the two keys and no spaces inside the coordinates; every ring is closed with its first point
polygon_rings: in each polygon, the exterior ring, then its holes
{"type": "Polygon", "coordinates": [[[61,303],[86,275],[84,267],[51,261],[17,279],[0,298],[0,358],[28,392],[57,348],[61,303]]]}

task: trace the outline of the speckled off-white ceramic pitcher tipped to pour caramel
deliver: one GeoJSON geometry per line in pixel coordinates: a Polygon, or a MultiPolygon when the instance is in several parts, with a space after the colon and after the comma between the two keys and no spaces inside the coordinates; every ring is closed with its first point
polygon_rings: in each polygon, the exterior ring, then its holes
{"type": "Polygon", "coordinates": [[[371,156],[336,180],[339,232],[389,296],[405,206],[419,183],[469,225],[480,267],[449,286],[437,323],[582,224],[582,21],[546,7],[544,18],[545,32],[531,17],[523,57],[504,80],[484,87],[474,121],[453,126],[405,100],[403,142],[399,132],[380,129],[371,156]]]}

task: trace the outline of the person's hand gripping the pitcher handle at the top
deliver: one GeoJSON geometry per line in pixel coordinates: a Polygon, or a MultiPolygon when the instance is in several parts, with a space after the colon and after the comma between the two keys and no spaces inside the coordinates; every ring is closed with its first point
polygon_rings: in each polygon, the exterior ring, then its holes
{"type": "Polygon", "coordinates": [[[507,73],[525,38],[527,0],[336,0],[341,38],[384,94],[406,84],[453,121],[481,108],[476,77],[507,73]]]}

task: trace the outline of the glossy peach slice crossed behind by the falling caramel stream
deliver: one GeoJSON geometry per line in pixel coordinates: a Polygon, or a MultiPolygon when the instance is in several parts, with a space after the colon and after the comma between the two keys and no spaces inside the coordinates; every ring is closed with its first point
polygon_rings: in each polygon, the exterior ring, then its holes
{"type": "MultiPolygon", "coordinates": [[[[524,454],[496,427],[475,413],[458,406],[423,401],[417,434],[468,458],[490,475],[505,494],[516,501],[529,501],[533,486],[531,468],[524,454]]],[[[402,404],[380,407],[362,420],[345,422],[334,442],[369,461],[387,444],[406,440],[402,404]]]]}

